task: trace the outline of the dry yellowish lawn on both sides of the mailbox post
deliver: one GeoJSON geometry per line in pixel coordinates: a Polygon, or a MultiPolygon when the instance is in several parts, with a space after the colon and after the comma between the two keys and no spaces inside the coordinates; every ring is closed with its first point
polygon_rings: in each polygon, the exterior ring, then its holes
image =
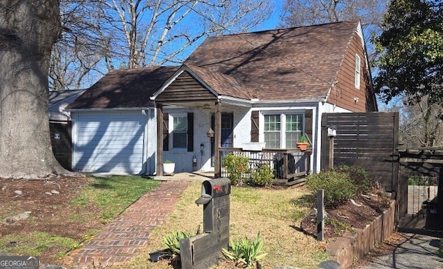
{"type": "MultiPolygon", "coordinates": [[[[165,223],[150,235],[145,249],[131,261],[114,268],[172,268],[167,261],[153,263],[149,253],[165,248],[163,236],[177,230],[196,231],[203,226],[203,207],[194,202],[201,194],[201,183],[193,183],[181,196],[181,200],[165,223]]],[[[316,241],[296,230],[309,208],[297,199],[307,194],[305,189],[260,189],[233,187],[230,201],[230,239],[244,236],[254,238],[257,232],[264,242],[268,255],[261,261],[263,268],[296,266],[316,268],[327,258],[325,243],[316,241]]]]}

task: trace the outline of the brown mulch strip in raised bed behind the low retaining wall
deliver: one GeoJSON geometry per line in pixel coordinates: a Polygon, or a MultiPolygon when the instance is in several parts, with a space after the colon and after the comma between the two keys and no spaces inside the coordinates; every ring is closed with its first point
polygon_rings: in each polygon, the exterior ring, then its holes
{"type": "MultiPolygon", "coordinates": [[[[336,208],[326,208],[324,238],[326,240],[341,236],[344,232],[353,232],[354,228],[363,229],[390,207],[392,201],[388,196],[379,192],[354,199],[355,205],[347,201],[336,208]]],[[[307,234],[316,236],[316,213],[313,210],[301,222],[301,229],[307,234]]]]}

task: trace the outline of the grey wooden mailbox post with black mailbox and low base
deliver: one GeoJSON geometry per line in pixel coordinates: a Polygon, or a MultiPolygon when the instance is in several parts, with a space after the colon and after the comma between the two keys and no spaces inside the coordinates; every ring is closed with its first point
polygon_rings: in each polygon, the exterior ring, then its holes
{"type": "Polygon", "coordinates": [[[206,269],[214,266],[229,245],[230,180],[215,178],[201,183],[203,234],[180,240],[183,269],[206,269]]]}

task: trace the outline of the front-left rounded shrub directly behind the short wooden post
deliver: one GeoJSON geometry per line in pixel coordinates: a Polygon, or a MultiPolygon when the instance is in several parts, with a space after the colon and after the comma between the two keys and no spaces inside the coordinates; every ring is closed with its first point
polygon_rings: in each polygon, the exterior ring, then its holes
{"type": "Polygon", "coordinates": [[[347,199],[359,195],[359,187],[344,171],[324,171],[311,174],[306,179],[307,188],[314,194],[318,189],[325,190],[325,207],[335,207],[347,199]]]}

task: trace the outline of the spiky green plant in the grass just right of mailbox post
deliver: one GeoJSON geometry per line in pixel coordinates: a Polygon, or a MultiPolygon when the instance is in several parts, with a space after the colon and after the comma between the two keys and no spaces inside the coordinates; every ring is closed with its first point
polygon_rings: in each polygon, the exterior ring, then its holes
{"type": "Polygon", "coordinates": [[[234,261],[236,266],[253,267],[254,263],[266,256],[267,253],[262,253],[263,243],[260,239],[260,232],[255,237],[255,240],[244,239],[237,240],[235,243],[230,241],[230,248],[232,251],[221,249],[226,259],[234,261]]]}

